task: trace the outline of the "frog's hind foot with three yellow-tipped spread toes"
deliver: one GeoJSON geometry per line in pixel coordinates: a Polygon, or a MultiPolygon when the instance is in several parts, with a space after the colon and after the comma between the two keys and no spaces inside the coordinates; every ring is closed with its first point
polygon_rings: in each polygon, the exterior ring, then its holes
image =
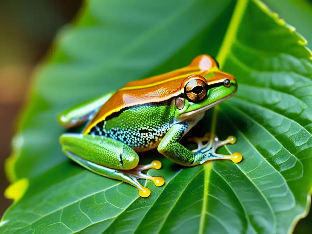
{"type": "Polygon", "coordinates": [[[153,181],[157,187],[162,186],[165,183],[164,178],[161,176],[153,177],[153,176],[142,173],[143,171],[149,170],[151,168],[154,168],[157,170],[160,169],[161,162],[159,162],[158,160],[154,160],[147,165],[138,165],[131,170],[120,170],[120,172],[127,174],[130,178],[132,178],[132,180],[134,181],[132,185],[134,185],[139,190],[139,195],[141,197],[148,197],[151,191],[149,190],[149,188],[143,187],[137,181],[137,179],[147,179],[147,180],[153,181]]]}

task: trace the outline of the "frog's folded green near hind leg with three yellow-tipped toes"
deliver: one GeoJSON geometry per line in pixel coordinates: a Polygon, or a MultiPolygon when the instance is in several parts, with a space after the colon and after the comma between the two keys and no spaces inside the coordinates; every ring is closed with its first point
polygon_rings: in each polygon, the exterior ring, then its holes
{"type": "Polygon", "coordinates": [[[150,168],[161,168],[159,161],[138,165],[138,154],[126,144],[114,139],[89,134],[63,134],[60,143],[63,152],[76,163],[99,175],[133,185],[139,190],[141,197],[148,197],[150,190],[143,187],[137,179],[151,180],[156,186],[165,182],[162,177],[142,173],[150,168]]]}

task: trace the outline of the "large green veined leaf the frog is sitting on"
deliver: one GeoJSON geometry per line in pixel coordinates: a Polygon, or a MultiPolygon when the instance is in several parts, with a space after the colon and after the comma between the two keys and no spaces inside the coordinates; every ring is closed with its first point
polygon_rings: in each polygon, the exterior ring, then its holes
{"type": "MultiPolygon", "coordinates": [[[[0,233],[287,233],[306,215],[312,185],[312,64],[305,41],[256,0],[88,1],[75,27],[38,70],[31,103],[8,163],[16,202],[0,233]],[[223,42],[222,42],[223,41],[223,42]],[[141,198],[134,187],[103,178],[61,153],[56,115],[127,81],[217,56],[239,88],[208,111],[210,123],[237,143],[243,161],[181,168],[163,162],[141,198]],[[16,162],[14,163],[14,160],[16,162]],[[12,168],[13,171],[12,171],[12,168]],[[24,178],[24,179],[23,179],[24,178]],[[22,187],[28,187],[20,197],[22,187]]],[[[13,191],[13,192],[12,192],[13,191]]]]}

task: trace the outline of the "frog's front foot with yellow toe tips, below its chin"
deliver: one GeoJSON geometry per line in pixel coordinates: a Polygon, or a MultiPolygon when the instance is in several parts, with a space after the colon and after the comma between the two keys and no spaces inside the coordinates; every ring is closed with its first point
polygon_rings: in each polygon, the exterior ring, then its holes
{"type": "Polygon", "coordinates": [[[234,163],[239,163],[243,158],[238,152],[232,155],[216,154],[216,150],[219,147],[226,144],[234,144],[236,142],[236,137],[234,136],[228,136],[227,139],[220,141],[216,135],[207,133],[202,138],[194,137],[190,138],[189,141],[197,143],[197,149],[192,150],[192,152],[195,155],[202,155],[200,163],[215,159],[228,159],[232,160],[234,163]]]}

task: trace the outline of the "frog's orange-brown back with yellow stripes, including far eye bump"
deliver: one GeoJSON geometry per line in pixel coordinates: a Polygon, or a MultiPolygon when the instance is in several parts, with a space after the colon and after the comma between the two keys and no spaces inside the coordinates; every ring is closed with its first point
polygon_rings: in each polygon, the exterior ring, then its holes
{"type": "Polygon", "coordinates": [[[194,74],[206,75],[211,67],[208,55],[197,56],[190,65],[143,80],[132,81],[118,90],[89,121],[83,130],[84,134],[98,123],[111,119],[111,116],[126,108],[148,103],[160,103],[180,94],[183,80],[194,74]]]}

